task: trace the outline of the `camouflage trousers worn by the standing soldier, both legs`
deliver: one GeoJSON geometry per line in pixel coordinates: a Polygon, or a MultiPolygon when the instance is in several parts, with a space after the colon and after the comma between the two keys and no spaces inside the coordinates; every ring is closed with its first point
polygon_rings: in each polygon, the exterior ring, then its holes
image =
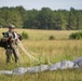
{"type": "Polygon", "coordinates": [[[18,57],[19,57],[18,49],[6,49],[6,51],[5,51],[6,63],[10,63],[12,54],[15,57],[15,63],[17,63],[18,62],[18,57]]]}

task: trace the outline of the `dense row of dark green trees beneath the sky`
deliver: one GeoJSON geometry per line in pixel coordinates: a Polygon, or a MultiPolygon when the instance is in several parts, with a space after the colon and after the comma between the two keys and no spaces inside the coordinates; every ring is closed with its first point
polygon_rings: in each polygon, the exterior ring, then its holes
{"type": "Polygon", "coordinates": [[[0,8],[0,27],[14,24],[16,28],[77,30],[82,29],[82,10],[25,10],[22,5],[0,8]]]}

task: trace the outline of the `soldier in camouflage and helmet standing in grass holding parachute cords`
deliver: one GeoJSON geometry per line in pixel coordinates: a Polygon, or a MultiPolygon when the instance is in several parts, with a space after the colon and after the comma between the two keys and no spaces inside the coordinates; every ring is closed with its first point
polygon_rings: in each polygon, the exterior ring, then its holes
{"type": "Polygon", "coordinates": [[[6,63],[10,63],[12,53],[15,57],[15,63],[18,62],[18,56],[19,52],[17,49],[17,43],[18,43],[18,36],[14,31],[14,25],[9,26],[9,31],[3,35],[3,42],[6,42],[6,48],[5,48],[5,55],[6,55],[6,63]]]}

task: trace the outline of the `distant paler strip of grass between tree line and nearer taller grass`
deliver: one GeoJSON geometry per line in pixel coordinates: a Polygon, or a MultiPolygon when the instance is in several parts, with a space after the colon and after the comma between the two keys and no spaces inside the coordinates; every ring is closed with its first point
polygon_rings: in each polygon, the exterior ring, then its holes
{"type": "MultiPolygon", "coordinates": [[[[0,37],[2,32],[8,31],[9,28],[0,28],[0,37]]],[[[71,32],[80,30],[40,30],[40,29],[15,29],[16,32],[22,33],[27,32],[29,40],[49,40],[50,36],[54,36],[56,40],[69,39],[71,32]]]]}

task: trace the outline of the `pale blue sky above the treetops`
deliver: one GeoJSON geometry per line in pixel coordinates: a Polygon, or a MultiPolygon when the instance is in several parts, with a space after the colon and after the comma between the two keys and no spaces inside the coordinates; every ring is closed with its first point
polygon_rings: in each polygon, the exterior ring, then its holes
{"type": "Polygon", "coordinates": [[[41,8],[69,10],[71,6],[82,10],[82,0],[0,0],[0,8],[18,5],[23,5],[26,10],[41,10],[41,8]]]}

